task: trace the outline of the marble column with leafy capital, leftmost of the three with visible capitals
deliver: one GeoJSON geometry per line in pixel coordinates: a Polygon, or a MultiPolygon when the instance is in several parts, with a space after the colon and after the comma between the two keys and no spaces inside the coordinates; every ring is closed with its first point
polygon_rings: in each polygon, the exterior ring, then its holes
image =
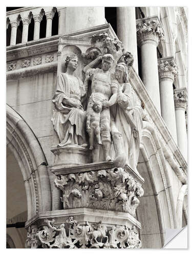
{"type": "Polygon", "coordinates": [[[161,114],[157,46],[164,39],[158,16],[136,20],[137,39],[141,48],[142,81],[148,94],[161,114]]]}

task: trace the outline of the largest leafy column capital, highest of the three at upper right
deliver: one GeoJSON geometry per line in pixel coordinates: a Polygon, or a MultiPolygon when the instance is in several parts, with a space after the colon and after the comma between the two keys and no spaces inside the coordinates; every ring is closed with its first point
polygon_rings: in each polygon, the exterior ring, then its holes
{"type": "Polygon", "coordinates": [[[136,20],[137,38],[140,45],[154,44],[164,40],[164,32],[157,15],[136,20]]]}

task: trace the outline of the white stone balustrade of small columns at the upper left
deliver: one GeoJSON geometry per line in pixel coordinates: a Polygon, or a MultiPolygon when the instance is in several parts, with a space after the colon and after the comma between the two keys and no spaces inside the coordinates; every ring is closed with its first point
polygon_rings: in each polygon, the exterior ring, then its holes
{"type": "Polygon", "coordinates": [[[23,24],[22,43],[28,41],[29,25],[32,18],[34,20],[33,40],[39,39],[40,22],[44,16],[46,16],[47,20],[46,37],[50,37],[52,35],[52,20],[56,12],[58,13],[59,19],[60,9],[56,7],[24,7],[8,11],[7,29],[9,29],[8,37],[10,38],[10,46],[16,45],[17,27],[20,25],[20,22],[23,24]]]}

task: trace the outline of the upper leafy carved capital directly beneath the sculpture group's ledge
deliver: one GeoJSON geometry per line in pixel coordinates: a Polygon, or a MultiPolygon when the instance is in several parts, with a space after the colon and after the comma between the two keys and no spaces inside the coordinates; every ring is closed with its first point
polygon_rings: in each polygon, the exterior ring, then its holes
{"type": "Polygon", "coordinates": [[[135,216],[143,196],[141,184],[123,168],[59,175],[55,185],[62,190],[63,209],[88,207],[135,216]]]}

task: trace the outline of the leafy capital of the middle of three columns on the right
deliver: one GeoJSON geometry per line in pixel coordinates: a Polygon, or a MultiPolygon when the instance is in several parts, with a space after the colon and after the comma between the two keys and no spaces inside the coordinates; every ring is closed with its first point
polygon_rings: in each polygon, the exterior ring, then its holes
{"type": "Polygon", "coordinates": [[[173,56],[158,59],[159,79],[172,79],[178,75],[178,68],[173,56]]]}

